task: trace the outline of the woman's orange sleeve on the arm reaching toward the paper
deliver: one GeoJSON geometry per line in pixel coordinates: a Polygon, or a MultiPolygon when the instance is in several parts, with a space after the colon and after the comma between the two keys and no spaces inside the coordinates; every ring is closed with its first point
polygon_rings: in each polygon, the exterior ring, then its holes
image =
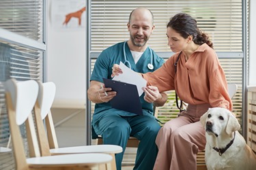
{"type": "Polygon", "coordinates": [[[159,69],[154,72],[142,74],[143,78],[147,80],[147,85],[157,86],[160,92],[167,90],[174,90],[174,66],[173,56],[169,58],[159,69]]]}

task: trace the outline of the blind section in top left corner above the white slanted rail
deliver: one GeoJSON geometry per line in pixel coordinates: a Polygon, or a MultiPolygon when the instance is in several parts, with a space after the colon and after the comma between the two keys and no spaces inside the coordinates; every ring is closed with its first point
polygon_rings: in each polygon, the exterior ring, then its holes
{"type": "Polygon", "coordinates": [[[42,5],[42,0],[1,0],[1,29],[42,42],[42,5]]]}

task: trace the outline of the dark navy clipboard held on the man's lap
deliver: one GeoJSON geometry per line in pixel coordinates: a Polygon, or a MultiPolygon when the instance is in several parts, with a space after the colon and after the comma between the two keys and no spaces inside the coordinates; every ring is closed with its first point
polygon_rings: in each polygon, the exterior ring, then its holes
{"type": "Polygon", "coordinates": [[[110,101],[113,108],[142,115],[142,106],[136,85],[105,78],[103,78],[103,82],[105,87],[110,87],[117,92],[117,95],[110,101]]]}

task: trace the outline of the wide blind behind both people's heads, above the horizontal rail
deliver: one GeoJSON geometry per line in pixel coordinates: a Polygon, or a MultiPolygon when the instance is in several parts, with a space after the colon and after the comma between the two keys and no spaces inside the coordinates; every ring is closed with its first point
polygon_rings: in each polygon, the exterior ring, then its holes
{"type": "Polygon", "coordinates": [[[242,51],[242,0],[197,1],[91,1],[91,52],[101,52],[117,41],[129,38],[126,24],[136,7],[147,7],[154,14],[156,29],[149,44],[156,52],[169,52],[166,26],[169,18],[186,12],[198,27],[210,35],[217,52],[242,51]]]}

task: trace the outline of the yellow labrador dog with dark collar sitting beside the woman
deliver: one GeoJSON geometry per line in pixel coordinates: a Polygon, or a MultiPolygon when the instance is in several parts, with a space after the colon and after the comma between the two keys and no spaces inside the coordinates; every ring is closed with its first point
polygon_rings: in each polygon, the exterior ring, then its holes
{"type": "Polygon", "coordinates": [[[205,128],[205,164],[207,169],[256,169],[256,155],[238,130],[236,117],[224,108],[214,107],[203,114],[205,128]]]}

